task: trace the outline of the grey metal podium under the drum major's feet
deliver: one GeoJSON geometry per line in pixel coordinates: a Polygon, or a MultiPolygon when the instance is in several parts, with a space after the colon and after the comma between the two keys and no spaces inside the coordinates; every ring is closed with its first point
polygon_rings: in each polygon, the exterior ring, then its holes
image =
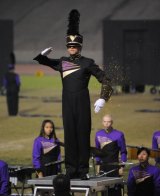
{"type": "MultiPolygon", "coordinates": [[[[52,181],[56,176],[48,176],[44,178],[36,178],[28,180],[29,185],[34,185],[34,195],[37,196],[38,191],[53,190],[52,181]]],[[[97,192],[105,191],[106,196],[109,187],[115,184],[123,184],[123,178],[119,177],[91,177],[90,180],[71,179],[72,192],[84,192],[85,196],[96,196],[97,192]]]]}

